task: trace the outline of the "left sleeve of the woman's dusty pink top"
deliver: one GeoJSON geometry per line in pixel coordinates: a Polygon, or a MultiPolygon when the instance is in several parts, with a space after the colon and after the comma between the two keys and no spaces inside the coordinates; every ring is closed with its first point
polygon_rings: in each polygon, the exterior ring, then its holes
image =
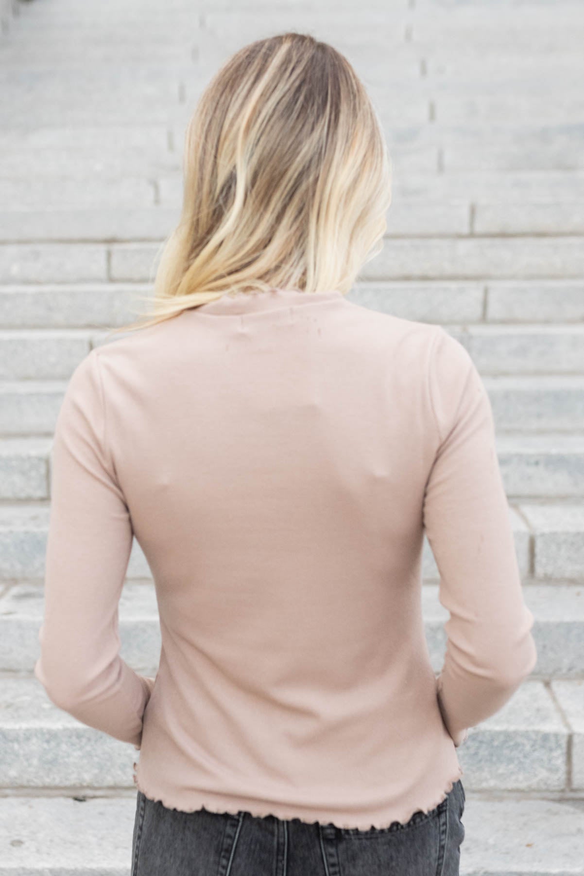
{"type": "Polygon", "coordinates": [[[54,430],[34,675],[60,709],[139,748],[153,679],[137,675],[120,656],[118,603],[133,529],[107,438],[94,349],[73,371],[54,430]]]}

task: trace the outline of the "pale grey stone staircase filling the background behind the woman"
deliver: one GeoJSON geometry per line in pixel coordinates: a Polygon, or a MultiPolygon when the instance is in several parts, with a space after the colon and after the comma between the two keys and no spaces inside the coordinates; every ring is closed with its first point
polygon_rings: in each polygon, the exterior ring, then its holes
{"type": "MultiPolygon", "coordinates": [[[[2,14],[4,8],[0,6],[2,14]]],[[[459,758],[464,876],[584,876],[584,7],[577,0],[51,0],[0,39],[0,876],[127,876],[132,746],[32,676],[52,430],[73,368],[148,293],[184,129],[222,60],[313,32],[353,61],[393,159],[351,298],[440,322],[490,392],[539,662],[459,758]]],[[[425,545],[435,671],[448,615],[425,545]]],[[[122,655],[159,653],[135,543],[122,655]]],[[[309,874],[307,874],[309,876],[309,874]]],[[[348,876],[348,874],[344,874],[348,876]]]]}

